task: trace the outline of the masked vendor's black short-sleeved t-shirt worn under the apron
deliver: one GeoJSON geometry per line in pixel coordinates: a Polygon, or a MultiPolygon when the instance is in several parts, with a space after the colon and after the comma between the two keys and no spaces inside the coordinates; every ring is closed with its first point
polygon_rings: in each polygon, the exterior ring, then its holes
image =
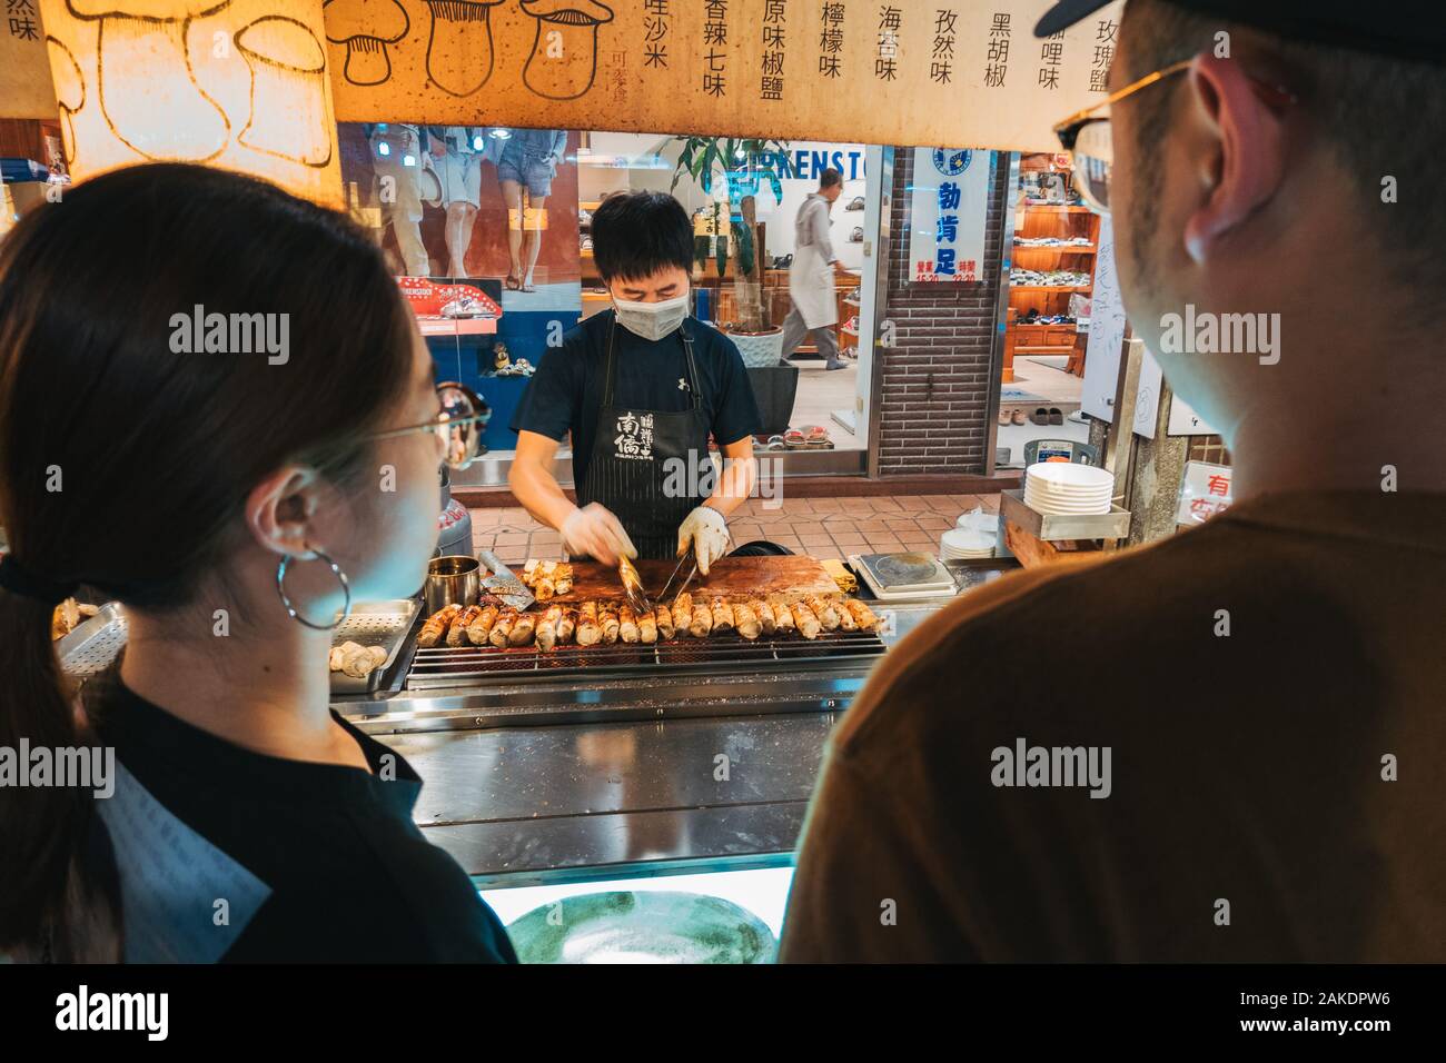
{"type": "MultiPolygon", "coordinates": [[[[593,458],[612,323],[613,311],[594,314],[564,336],[561,347],[547,351],[512,417],[512,430],[518,432],[538,432],[558,441],[573,432],[573,482],[578,486],[593,458]]],[[[762,417],[737,344],[696,317],[688,317],[683,328],[693,337],[693,360],[713,438],[726,447],[759,431],[762,417]]],[[[684,386],[688,363],[677,333],[643,340],[617,325],[615,344],[615,405],[671,414],[690,406],[693,399],[684,386]]]]}

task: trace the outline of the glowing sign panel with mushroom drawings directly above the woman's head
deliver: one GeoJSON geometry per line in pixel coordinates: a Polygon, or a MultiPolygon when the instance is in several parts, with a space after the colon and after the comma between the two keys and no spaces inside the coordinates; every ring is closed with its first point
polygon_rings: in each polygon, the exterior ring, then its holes
{"type": "Polygon", "coordinates": [[[71,176],[204,162],[341,204],[320,0],[40,0],[71,176]]]}

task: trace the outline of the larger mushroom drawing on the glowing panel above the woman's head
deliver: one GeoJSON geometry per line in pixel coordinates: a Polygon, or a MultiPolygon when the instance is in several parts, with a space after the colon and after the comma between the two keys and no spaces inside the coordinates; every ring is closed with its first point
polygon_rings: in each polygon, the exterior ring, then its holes
{"type": "Polygon", "coordinates": [[[231,123],[191,74],[191,19],[231,0],[65,0],[98,22],[95,81],[111,133],[147,159],[207,162],[226,150],[231,123]]]}

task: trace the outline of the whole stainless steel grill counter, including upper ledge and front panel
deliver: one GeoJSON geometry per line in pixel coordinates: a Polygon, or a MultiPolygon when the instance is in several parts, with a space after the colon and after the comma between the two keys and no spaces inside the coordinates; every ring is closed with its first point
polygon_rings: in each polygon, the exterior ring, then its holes
{"type": "MultiPolygon", "coordinates": [[[[885,645],[940,605],[876,606],[894,613],[885,645]]],[[[416,768],[418,824],[479,885],[768,866],[792,853],[829,732],[878,659],[392,688],[337,709],[416,768]]]]}

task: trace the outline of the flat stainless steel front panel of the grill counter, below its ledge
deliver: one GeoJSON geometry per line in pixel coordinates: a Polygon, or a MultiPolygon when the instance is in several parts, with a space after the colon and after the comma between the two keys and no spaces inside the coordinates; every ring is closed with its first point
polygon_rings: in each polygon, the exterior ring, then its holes
{"type": "Polygon", "coordinates": [[[836,719],[782,713],[383,740],[427,780],[416,807],[427,837],[480,884],[516,885],[622,868],[756,866],[790,853],[836,719]]]}

